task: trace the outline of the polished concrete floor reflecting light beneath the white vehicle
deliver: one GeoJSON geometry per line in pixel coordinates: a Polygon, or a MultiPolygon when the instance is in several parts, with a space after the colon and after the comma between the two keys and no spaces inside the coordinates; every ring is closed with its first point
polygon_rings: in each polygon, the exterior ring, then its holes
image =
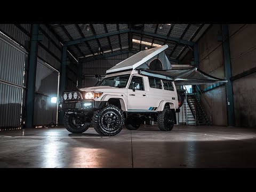
{"type": "Polygon", "coordinates": [[[101,137],[65,128],[0,131],[0,167],[256,167],[256,129],[157,125],[101,137]]]}

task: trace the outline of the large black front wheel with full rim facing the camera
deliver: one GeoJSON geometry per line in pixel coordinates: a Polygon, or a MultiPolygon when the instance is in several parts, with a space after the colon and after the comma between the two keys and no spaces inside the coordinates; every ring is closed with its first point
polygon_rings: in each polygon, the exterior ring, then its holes
{"type": "Polygon", "coordinates": [[[116,135],[123,129],[123,124],[122,110],[114,105],[97,110],[93,115],[94,129],[101,135],[116,135]]]}

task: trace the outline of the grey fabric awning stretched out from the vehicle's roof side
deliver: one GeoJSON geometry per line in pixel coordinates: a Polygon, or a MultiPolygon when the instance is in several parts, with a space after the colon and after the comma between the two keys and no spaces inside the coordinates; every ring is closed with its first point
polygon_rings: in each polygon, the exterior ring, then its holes
{"type": "Polygon", "coordinates": [[[169,79],[174,81],[175,85],[199,85],[205,83],[228,82],[225,79],[208,75],[197,68],[179,70],[139,69],[139,73],[142,75],[169,79]]]}

